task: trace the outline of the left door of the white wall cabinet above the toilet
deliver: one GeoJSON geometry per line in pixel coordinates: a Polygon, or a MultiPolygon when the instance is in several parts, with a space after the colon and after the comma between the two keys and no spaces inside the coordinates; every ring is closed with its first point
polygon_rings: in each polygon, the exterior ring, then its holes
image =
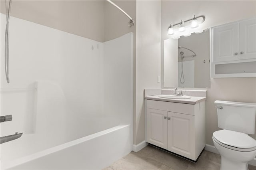
{"type": "Polygon", "coordinates": [[[239,59],[239,23],[213,28],[213,60],[239,59]]]}

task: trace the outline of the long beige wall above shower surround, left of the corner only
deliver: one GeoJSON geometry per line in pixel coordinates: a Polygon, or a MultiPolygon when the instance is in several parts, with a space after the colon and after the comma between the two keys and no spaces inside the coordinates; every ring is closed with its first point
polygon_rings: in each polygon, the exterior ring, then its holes
{"type": "Polygon", "coordinates": [[[11,16],[104,42],[104,7],[104,1],[13,0],[11,16]]]}

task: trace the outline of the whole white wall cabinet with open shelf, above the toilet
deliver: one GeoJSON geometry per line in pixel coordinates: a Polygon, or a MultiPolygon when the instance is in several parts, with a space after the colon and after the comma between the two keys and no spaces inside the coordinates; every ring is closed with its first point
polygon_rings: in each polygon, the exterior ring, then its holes
{"type": "Polygon", "coordinates": [[[256,77],[256,18],[211,28],[211,77],[256,77]]]}

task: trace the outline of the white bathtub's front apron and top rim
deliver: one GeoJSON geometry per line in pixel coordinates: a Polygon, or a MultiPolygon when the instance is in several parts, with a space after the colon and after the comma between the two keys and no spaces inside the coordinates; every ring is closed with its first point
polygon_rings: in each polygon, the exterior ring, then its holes
{"type": "Polygon", "coordinates": [[[131,125],[118,125],[10,162],[1,162],[1,169],[102,169],[131,151],[131,125]]]}

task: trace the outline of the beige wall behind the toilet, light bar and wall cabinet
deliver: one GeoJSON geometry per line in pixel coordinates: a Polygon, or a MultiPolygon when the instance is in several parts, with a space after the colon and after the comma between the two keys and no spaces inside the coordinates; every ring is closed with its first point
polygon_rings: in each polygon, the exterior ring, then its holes
{"type": "MultiPolygon", "coordinates": [[[[204,15],[204,28],[256,16],[255,1],[162,1],[162,42],[168,39],[170,23],[204,15]]],[[[163,71],[162,71],[163,72],[163,71]]],[[[218,128],[215,100],[256,103],[256,78],[211,79],[206,101],[206,143],[218,128]],[[246,89],[244,92],[243,89],[246,89]]]]}

